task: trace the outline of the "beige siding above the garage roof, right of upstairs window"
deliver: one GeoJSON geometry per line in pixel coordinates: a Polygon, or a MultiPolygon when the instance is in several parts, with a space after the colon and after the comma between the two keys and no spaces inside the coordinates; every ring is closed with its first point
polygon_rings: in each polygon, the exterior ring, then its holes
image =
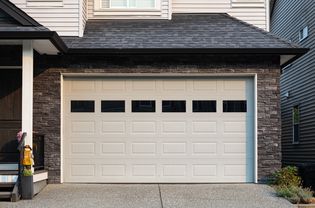
{"type": "Polygon", "coordinates": [[[173,13],[228,13],[249,24],[267,29],[265,0],[173,0],[173,13]]]}

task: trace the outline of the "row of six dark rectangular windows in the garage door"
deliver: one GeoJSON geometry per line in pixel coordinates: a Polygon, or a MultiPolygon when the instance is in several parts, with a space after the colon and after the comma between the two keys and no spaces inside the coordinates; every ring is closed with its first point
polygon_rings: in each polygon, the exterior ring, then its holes
{"type": "MultiPolygon", "coordinates": [[[[133,100],[131,101],[133,113],[154,113],[156,112],[155,100],[133,100]]],[[[192,101],[192,111],[195,113],[217,112],[217,101],[215,100],[194,100],[192,101]]],[[[223,101],[223,112],[246,112],[247,103],[245,100],[225,100],[223,101]]],[[[93,100],[72,100],[72,113],[93,113],[95,112],[95,102],[93,100]]],[[[101,112],[117,113],[125,112],[124,100],[103,100],[101,112]]],[[[163,100],[163,113],[185,113],[185,100],[163,100]]]]}

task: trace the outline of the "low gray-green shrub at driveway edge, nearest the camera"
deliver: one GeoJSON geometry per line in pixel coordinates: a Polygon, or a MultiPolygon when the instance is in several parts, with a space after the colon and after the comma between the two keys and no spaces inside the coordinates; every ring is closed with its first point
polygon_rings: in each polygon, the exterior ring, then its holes
{"type": "Polygon", "coordinates": [[[309,188],[300,186],[282,186],[276,188],[277,195],[289,200],[293,204],[310,203],[313,192],[309,188]]]}

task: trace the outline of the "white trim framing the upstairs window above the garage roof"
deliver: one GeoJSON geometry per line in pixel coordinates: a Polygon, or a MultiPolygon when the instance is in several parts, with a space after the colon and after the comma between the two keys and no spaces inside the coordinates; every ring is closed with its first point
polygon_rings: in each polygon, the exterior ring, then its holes
{"type": "MultiPolygon", "coordinates": [[[[111,3],[110,3],[111,4],[111,3]]],[[[113,12],[157,12],[161,10],[161,0],[155,0],[154,8],[128,8],[128,7],[115,7],[115,8],[103,8],[102,0],[94,0],[94,10],[95,11],[113,11],[113,12]]]]}

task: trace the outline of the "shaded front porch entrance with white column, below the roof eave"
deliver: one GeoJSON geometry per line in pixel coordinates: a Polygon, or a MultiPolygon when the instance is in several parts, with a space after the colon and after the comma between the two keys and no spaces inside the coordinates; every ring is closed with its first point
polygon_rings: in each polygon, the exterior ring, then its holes
{"type": "Polygon", "coordinates": [[[19,131],[24,133],[22,147],[29,145],[33,149],[34,194],[47,184],[44,135],[33,131],[34,53],[45,52],[43,44],[40,50],[36,47],[38,41],[43,43],[42,40],[0,40],[0,199],[20,198],[21,156],[16,136],[19,131]]]}

